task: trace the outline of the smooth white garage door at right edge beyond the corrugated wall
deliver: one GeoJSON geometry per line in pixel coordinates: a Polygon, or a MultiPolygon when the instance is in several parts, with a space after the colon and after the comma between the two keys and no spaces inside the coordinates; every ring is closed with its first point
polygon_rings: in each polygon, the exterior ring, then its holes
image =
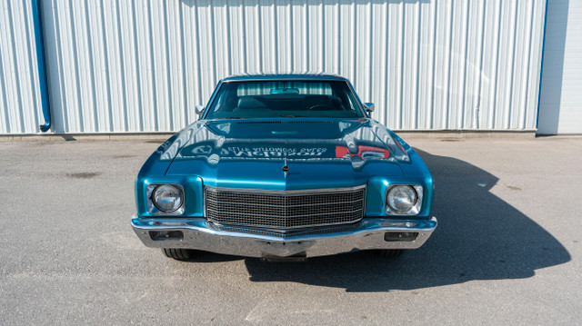
{"type": "Polygon", "coordinates": [[[582,1],[547,2],[537,133],[582,133],[582,1]]]}

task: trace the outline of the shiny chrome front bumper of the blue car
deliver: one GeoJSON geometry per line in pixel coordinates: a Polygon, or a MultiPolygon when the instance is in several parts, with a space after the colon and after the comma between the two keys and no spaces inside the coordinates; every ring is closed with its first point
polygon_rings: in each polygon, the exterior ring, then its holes
{"type": "Polygon", "coordinates": [[[196,249],[246,257],[316,257],[370,249],[416,249],[437,228],[437,218],[397,221],[366,218],[348,232],[286,237],[218,231],[208,226],[205,219],[142,219],[134,216],[132,226],[148,247],[196,249]],[[391,235],[398,232],[417,233],[417,236],[412,241],[394,241],[391,235]],[[168,234],[167,238],[164,234],[168,234]]]}

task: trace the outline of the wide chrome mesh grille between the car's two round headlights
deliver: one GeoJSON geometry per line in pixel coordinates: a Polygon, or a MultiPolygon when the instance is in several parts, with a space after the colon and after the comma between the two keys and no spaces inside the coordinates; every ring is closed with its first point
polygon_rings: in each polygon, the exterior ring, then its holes
{"type": "Polygon", "coordinates": [[[258,193],[206,187],[205,195],[208,221],[293,229],[361,220],[366,188],[258,193]]]}

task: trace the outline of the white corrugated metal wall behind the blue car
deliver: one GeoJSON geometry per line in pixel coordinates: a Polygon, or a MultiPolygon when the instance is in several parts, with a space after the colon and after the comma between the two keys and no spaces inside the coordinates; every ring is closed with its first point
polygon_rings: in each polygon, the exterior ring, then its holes
{"type": "MultiPolygon", "coordinates": [[[[34,133],[30,9],[3,4],[0,133],[34,133]]],[[[346,76],[397,130],[536,128],[544,0],[45,0],[42,9],[54,133],[176,131],[220,78],[289,71],[346,76]]]]}

